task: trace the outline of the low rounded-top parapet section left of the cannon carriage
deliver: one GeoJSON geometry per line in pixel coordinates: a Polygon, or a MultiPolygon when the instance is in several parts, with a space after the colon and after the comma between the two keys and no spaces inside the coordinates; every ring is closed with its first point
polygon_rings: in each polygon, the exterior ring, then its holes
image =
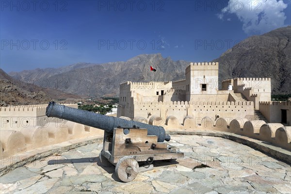
{"type": "Polygon", "coordinates": [[[56,126],[52,122],[48,127],[30,126],[17,130],[0,130],[0,160],[39,147],[103,134],[101,129],[70,121],[63,126],[56,126]]]}

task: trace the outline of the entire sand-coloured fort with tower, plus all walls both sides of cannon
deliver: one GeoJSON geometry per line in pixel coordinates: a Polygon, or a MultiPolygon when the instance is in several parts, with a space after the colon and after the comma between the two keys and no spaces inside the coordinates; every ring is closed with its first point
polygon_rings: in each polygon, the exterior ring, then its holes
{"type": "MultiPolygon", "coordinates": [[[[162,126],[168,133],[239,139],[291,163],[291,102],[271,101],[270,78],[228,79],[219,90],[218,66],[191,63],[180,81],[121,83],[117,117],[162,126]]],[[[103,130],[48,118],[46,107],[0,107],[0,176],[16,163],[35,160],[35,154],[24,153],[103,137],[103,130]],[[13,159],[21,154],[24,159],[13,159]]]]}

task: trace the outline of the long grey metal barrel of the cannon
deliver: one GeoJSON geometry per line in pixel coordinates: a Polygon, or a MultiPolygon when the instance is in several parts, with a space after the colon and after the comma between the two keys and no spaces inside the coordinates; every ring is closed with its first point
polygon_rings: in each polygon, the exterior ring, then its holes
{"type": "Polygon", "coordinates": [[[48,117],[57,117],[68,121],[73,121],[90,127],[105,130],[113,133],[114,128],[146,128],[147,135],[158,136],[158,142],[170,141],[171,137],[166,135],[165,129],[161,126],[148,125],[145,123],[125,120],[114,116],[106,116],[103,114],[97,114],[89,111],[83,111],[67,107],[64,105],[56,104],[55,102],[49,102],[46,110],[48,117]]]}

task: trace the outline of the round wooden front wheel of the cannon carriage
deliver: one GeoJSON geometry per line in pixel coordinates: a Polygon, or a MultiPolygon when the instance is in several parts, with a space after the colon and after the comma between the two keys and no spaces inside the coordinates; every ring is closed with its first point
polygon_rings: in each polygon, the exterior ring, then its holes
{"type": "Polygon", "coordinates": [[[139,165],[135,159],[129,156],[122,157],[115,166],[116,176],[123,182],[133,180],[138,173],[139,165]]]}

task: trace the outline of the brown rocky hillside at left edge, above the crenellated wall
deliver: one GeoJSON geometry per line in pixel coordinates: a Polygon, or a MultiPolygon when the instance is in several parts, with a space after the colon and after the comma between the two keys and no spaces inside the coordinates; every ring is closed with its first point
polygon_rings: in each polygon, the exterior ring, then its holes
{"type": "Polygon", "coordinates": [[[81,97],[16,80],[0,69],[0,106],[76,102],[81,97]]]}

